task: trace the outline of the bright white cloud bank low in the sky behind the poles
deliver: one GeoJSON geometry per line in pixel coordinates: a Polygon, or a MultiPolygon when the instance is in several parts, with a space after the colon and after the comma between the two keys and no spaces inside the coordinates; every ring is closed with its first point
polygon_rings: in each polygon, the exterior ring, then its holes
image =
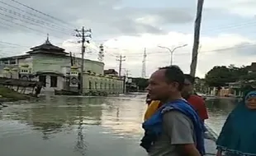
{"type": "MultiPolygon", "coordinates": [[[[107,46],[106,67],[115,67],[116,57],[113,53],[121,53],[126,56],[123,67],[130,70],[133,76],[140,76],[144,48],[147,49],[147,76],[158,67],[169,65],[170,55],[162,48],[161,44],[168,48],[188,44],[187,47],[179,48],[174,52],[174,64],[182,67],[188,73],[190,69],[192,53],[192,34],[169,32],[168,34],[143,34],[141,36],[121,36],[105,42],[107,46]],[[115,50],[126,49],[126,50],[115,50]]],[[[213,37],[202,36],[201,48],[198,55],[197,76],[204,77],[206,72],[214,66],[235,64],[237,66],[247,65],[254,62],[256,53],[256,40],[247,39],[238,34],[219,34],[213,37]],[[254,57],[252,57],[254,56],[254,57]]]]}

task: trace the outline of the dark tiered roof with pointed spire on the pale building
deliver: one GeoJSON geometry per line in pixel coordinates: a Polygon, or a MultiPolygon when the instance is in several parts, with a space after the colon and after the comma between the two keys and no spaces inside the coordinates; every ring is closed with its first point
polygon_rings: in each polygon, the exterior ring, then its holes
{"type": "Polygon", "coordinates": [[[44,44],[31,48],[31,51],[27,52],[31,53],[52,53],[52,54],[63,54],[66,55],[68,53],[64,52],[64,48],[60,48],[50,43],[49,36],[47,34],[47,39],[44,44]]]}

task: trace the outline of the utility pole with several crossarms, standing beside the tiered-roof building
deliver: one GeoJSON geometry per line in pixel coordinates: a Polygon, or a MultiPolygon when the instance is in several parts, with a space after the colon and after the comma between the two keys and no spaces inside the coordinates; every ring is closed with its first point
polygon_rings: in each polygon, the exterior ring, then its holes
{"type": "Polygon", "coordinates": [[[85,53],[85,46],[84,43],[87,42],[88,44],[90,44],[90,41],[88,38],[92,38],[92,30],[84,30],[84,26],[82,28],[82,30],[75,30],[78,34],[76,34],[75,36],[78,38],[81,38],[81,41],[78,41],[78,43],[82,43],[82,64],[81,64],[81,75],[80,75],[80,94],[83,94],[83,72],[84,72],[84,53],[85,53]],[[90,33],[90,34],[85,34],[85,33],[90,33]]]}

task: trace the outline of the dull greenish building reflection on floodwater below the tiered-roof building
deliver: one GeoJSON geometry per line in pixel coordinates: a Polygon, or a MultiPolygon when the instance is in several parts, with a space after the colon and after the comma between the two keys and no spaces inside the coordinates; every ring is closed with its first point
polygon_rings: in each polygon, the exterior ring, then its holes
{"type": "Polygon", "coordinates": [[[16,114],[15,116],[7,117],[26,122],[36,130],[42,131],[45,135],[44,138],[47,139],[52,133],[67,131],[69,126],[101,124],[104,100],[99,98],[55,97],[50,99],[50,103],[47,105],[42,105],[45,102],[40,101],[35,103],[34,107],[19,108],[19,110],[12,112],[16,114]]]}

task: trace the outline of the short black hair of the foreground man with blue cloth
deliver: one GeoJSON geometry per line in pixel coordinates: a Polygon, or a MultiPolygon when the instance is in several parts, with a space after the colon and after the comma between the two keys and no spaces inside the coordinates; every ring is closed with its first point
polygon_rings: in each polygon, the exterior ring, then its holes
{"type": "Polygon", "coordinates": [[[178,82],[178,89],[183,89],[185,76],[180,67],[173,65],[168,67],[160,67],[159,70],[165,70],[165,77],[168,82],[178,82]]]}

